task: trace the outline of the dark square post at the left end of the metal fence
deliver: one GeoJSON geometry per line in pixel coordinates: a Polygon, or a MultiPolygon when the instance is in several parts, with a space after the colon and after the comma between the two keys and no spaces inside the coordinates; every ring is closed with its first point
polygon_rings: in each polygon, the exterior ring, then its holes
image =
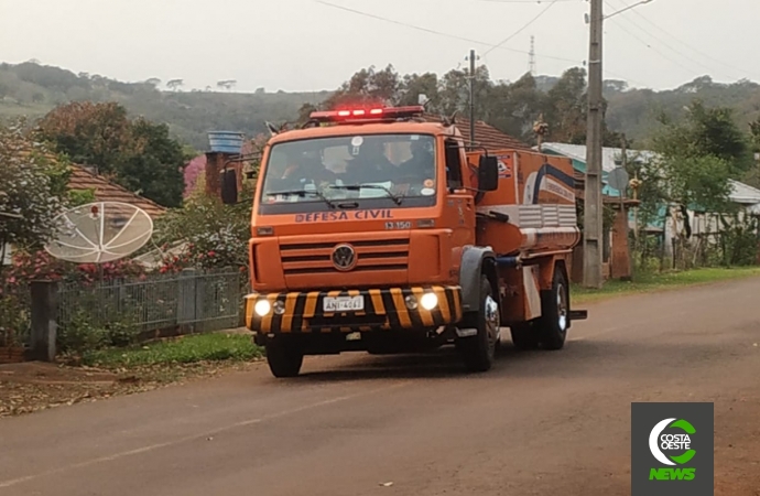
{"type": "Polygon", "coordinates": [[[58,284],[54,281],[32,281],[32,335],[30,358],[54,362],[56,355],[58,284]]]}

